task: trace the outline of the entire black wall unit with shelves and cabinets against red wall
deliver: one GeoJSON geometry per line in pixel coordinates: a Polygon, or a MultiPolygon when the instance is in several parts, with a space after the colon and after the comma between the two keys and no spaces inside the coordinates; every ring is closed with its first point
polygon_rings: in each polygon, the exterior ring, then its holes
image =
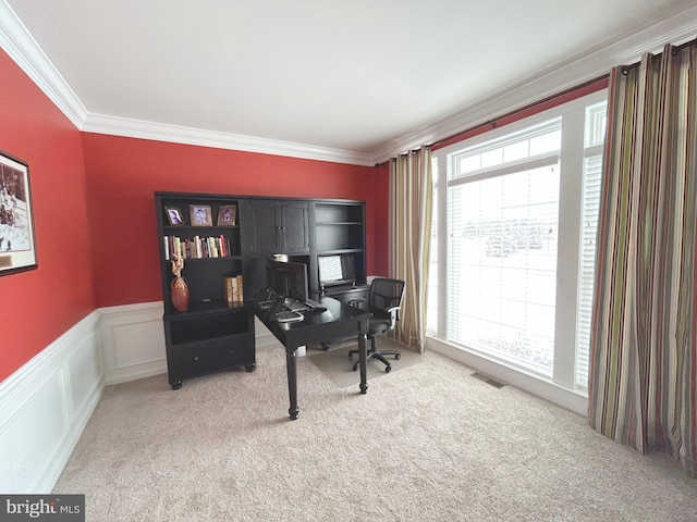
{"type": "Polygon", "coordinates": [[[158,191],[155,209],[167,363],[174,389],[184,380],[207,373],[255,369],[254,297],[267,286],[266,264],[272,254],[307,264],[314,299],[323,293],[317,258],[342,256],[354,272],[355,285],[326,294],[355,306],[366,299],[365,201],[158,191]],[[201,207],[208,223],[195,226],[195,210],[201,207]],[[234,223],[219,225],[218,215],[228,208],[235,209],[234,223]],[[181,217],[174,221],[181,223],[170,221],[172,209],[181,217]],[[185,253],[182,276],[189,290],[185,312],[178,311],[171,298],[174,275],[169,258],[174,237],[185,253]],[[206,239],[206,252],[194,247],[203,248],[197,238],[206,239]],[[233,276],[242,276],[243,296],[228,302],[223,282],[233,276]]]}

